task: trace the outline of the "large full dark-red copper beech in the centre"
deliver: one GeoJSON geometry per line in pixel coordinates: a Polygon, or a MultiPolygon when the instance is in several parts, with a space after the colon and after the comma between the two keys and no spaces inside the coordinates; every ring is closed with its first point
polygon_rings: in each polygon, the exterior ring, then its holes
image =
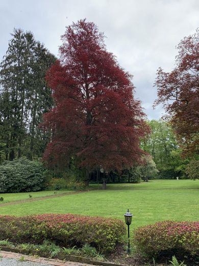
{"type": "Polygon", "coordinates": [[[55,108],[44,116],[43,125],[53,132],[44,160],[64,166],[72,157],[87,174],[99,166],[132,166],[142,154],[139,137],[148,131],[132,76],[107,52],[93,23],[73,23],[62,41],[60,60],[46,75],[55,108]]]}

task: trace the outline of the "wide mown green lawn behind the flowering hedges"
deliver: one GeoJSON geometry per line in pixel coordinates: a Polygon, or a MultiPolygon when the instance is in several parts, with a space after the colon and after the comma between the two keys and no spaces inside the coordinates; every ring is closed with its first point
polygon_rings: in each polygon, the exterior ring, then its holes
{"type": "MultiPolygon", "coordinates": [[[[97,190],[101,185],[91,185],[91,187],[96,190],[1,206],[0,214],[77,213],[123,219],[123,214],[129,208],[133,213],[132,229],[158,220],[199,219],[199,180],[154,180],[140,184],[108,184],[107,190],[97,190]]],[[[53,194],[54,191],[35,193],[53,194]]],[[[10,199],[13,200],[17,197],[17,194],[2,195],[5,197],[10,195],[10,199]]]]}

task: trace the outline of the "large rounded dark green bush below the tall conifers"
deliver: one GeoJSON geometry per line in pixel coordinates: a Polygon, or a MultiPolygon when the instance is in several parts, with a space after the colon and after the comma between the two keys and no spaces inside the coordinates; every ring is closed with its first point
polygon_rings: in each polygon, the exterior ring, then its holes
{"type": "Polygon", "coordinates": [[[39,161],[25,158],[6,161],[0,166],[0,193],[43,189],[44,168],[39,161]]]}

